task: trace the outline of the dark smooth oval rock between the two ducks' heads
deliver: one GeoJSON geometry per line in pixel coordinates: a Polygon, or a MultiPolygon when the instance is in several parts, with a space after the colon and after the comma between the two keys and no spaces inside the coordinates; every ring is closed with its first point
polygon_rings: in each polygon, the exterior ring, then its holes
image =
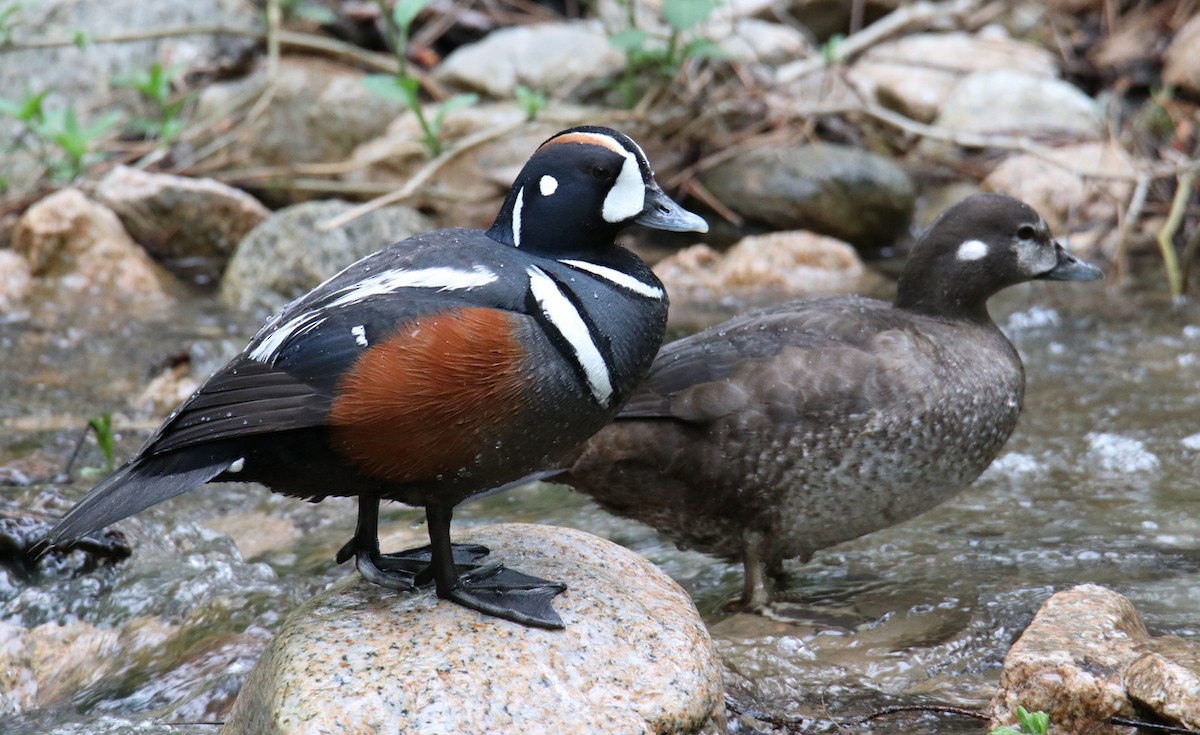
{"type": "Polygon", "coordinates": [[[750,150],[707,172],[726,207],[774,229],[809,229],[856,247],[889,245],[905,232],[916,191],[898,166],[833,144],[750,150]]]}

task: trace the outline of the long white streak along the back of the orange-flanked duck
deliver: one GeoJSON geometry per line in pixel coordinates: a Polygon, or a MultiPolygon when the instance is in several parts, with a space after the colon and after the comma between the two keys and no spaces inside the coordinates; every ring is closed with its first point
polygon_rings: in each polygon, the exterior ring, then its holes
{"type": "MultiPolygon", "coordinates": [[[[482,265],[475,265],[470,270],[460,270],[457,268],[445,267],[418,268],[414,270],[404,270],[401,268],[383,270],[367,276],[356,283],[337,289],[334,292],[334,294],[340,294],[337,298],[322,304],[311,311],[305,311],[292,317],[264,337],[263,335],[272,324],[280,321],[283,312],[276,315],[251,341],[252,345],[254,342],[258,342],[258,345],[254,346],[247,357],[254,361],[263,363],[264,365],[270,365],[278,357],[280,349],[283,348],[283,345],[289,339],[319,327],[320,323],[325,321],[323,316],[324,312],[330,309],[349,306],[350,304],[356,304],[371,297],[385,295],[401,291],[402,288],[470,291],[472,288],[487,286],[496,280],[497,275],[482,265]],[[258,341],[259,339],[262,339],[262,341],[258,341]]],[[[355,336],[358,335],[355,334],[355,336]]],[[[366,340],[365,331],[362,334],[362,339],[366,340]]]]}

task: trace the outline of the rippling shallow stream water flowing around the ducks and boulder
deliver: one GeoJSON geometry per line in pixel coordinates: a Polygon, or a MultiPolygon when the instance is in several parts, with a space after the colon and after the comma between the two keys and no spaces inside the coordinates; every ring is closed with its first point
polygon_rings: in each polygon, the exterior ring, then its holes
{"type": "MultiPolygon", "coordinates": [[[[791,567],[788,620],[722,614],[740,588],[737,566],[678,551],[563,488],[470,503],[456,526],[574,526],[647,555],[710,621],[730,694],[812,731],[898,704],[982,707],[1040,603],[1080,582],[1129,597],[1154,634],[1200,635],[1200,309],[1033,285],[1002,294],[994,312],[1028,376],[1000,460],[952,502],[791,567]]],[[[101,462],[90,438],[64,474],[91,416],[116,413],[116,454],[128,456],[166,412],[128,396],[180,355],[206,375],[256,327],[194,304],[118,327],[47,313],[0,323],[0,519],[62,513],[96,479],[82,477],[101,462]]],[[[419,521],[388,509],[385,550],[419,543],[419,521]]],[[[353,526],[353,501],[208,485],[122,522],[133,556],[118,564],[6,561],[0,730],[216,733],[208,723],[275,626],[350,572],[332,556],[353,526]]],[[[880,718],[872,731],[983,730],[913,717],[880,718]]]]}

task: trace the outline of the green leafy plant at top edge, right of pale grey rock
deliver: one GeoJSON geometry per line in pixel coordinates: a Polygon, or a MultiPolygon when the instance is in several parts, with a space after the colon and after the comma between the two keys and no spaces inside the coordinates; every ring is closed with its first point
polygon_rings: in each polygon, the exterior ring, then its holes
{"type": "Polygon", "coordinates": [[[718,0],[662,0],[662,19],[670,28],[666,43],[636,26],[630,6],[630,26],[608,37],[608,42],[625,54],[625,72],[617,89],[626,104],[636,102],[637,82],[647,74],[671,79],[691,59],[724,55],[715,42],[694,32],[716,10],[716,4],[718,0]]]}

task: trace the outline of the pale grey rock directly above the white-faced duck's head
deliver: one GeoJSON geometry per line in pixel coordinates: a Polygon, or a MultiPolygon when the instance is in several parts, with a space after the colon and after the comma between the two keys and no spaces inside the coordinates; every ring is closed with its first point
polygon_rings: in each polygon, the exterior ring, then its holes
{"type": "Polygon", "coordinates": [[[442,82],[492,97],[512,97],[517,85],[557,92],[616,74],[625,56],[594,22],[517,25],[460,47],[438,67],[442,82]]]}

